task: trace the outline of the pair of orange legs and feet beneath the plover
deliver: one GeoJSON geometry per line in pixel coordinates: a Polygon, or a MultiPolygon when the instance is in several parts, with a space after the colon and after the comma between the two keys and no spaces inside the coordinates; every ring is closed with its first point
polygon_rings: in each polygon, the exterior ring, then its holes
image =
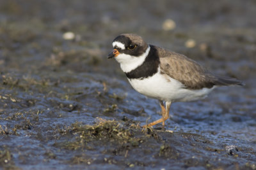
{"type": "Polygon", "coordinates": [[[169,111],[170,111],[170,106],[171,106],[172,102],[166,102],[166,107],[164,108],[164,104],[163,101],[160,101],[160,106],[162,109],[162,118],[159,118],[158,120],[151,122],[150,124],[147,125],[143,125],[143,127],[150,127],[156,124],[159,124],[161,122],[163,122],[163,127],[164,127],[164,121],[167,120],[169,118],[169,111]]]}

